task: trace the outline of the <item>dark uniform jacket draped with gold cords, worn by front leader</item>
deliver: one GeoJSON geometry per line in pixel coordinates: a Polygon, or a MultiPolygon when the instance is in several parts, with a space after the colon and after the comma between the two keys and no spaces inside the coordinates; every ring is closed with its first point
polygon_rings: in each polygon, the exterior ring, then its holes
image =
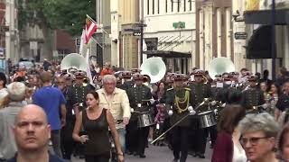
{"type": "MultiPolygon", "coordinates": [[[[180,90],[175,90],[173,88],[170,88],[167,90],[166,95],[165,95],[165,106],[167,110],[172,110],[172,116],[170,117],[171,124],[174,124],[177,121],[180,121],[182,117],[187,115],[189,113],[188,110],[184,112],[180,112],[178,109],[178,106],[185,110],[189,106],[194,107],[195,106],[195,94],[191,91],[189,87],[183,87],[180,90]],[[179,104],[176,103],[176,98],[179,97],[180,100],[183,100],[185,97],[185,94],[189,94],[188,99],[185,100],[184,103],[179,102],[179,104]],[[188,101],[189,100],[189,101],[188,101]]],[[[178,124],[180,127],[189,127],[191,125],[191,121],[189,118],[184,119],[182,122],[178,124]]]]}

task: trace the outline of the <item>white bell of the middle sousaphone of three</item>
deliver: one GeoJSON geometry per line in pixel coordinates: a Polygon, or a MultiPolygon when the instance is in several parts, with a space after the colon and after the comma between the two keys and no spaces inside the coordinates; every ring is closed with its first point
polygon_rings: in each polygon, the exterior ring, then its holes
{"type": "Polygon", "coordinates": [[[147,58],[140,68],[142,75],[150,76],[151,83],[156,83],[163,79],[166,67],[162,58],[147,58]]]}

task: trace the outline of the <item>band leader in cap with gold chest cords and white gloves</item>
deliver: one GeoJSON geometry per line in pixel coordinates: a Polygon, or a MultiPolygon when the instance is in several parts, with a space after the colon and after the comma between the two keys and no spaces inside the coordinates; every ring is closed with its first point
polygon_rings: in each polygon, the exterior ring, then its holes
{"type": "MultiPolygon", "coordinates": [[[[189,113],[194,114],[192,106],[195,105],[194,94],[189,87],[184,87],[182,75],[173,77],[173,87],[166,92],[165,107],[169,112],[171,125],[180,121],[189,113]]],[[[189,117],[177,124],[172,129],[173,162],[185,162],[188,156],[189,130],[191,121],[189,117]],[[181,153],[181,156],[180,156],[181,153]]]]}

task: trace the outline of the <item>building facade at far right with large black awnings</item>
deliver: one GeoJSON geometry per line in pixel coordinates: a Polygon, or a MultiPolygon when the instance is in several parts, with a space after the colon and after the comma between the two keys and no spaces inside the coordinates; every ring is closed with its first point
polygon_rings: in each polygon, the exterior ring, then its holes
{"type": "Polygon", "coordinates": [[[233,32],[244,32],[247,38],[242,40],[234,39],[234,62],[237,67],[247,67],[253,73],[262,72],[268,69],[272,74],[277,74],[279,67],[289,68],[289,20],[288,17],[289,2],[286,0],[275,0],[275,73],[272,73],[271,51],[262,48],[265,44],[272,45],[271,39],[260,40],[256,35],[271,35],[271,31],[260,32],[266,27],[271,28],[271,0],[254,1],[232,0],[232,13],[236,15],[233,20],[233,32]],[[278,18],[277,18],[278,17],[278,18]],[[257,33],[257,34],[256,34],[257,33]],[[261,49],[258,49],[254,42],[259,42],[261,49]],[[251,56],[251,50],[262,51],[251,56]]]}

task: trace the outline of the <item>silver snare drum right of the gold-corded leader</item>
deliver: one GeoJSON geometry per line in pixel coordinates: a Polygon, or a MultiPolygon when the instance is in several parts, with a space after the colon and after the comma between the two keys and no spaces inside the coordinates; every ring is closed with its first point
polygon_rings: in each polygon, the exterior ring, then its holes
{"type": "Polygon", "coordinates": [[[200,127],[208,128],[217,124],[216,117],[213,111],[201,112],[200,116],[200,127]]]}

